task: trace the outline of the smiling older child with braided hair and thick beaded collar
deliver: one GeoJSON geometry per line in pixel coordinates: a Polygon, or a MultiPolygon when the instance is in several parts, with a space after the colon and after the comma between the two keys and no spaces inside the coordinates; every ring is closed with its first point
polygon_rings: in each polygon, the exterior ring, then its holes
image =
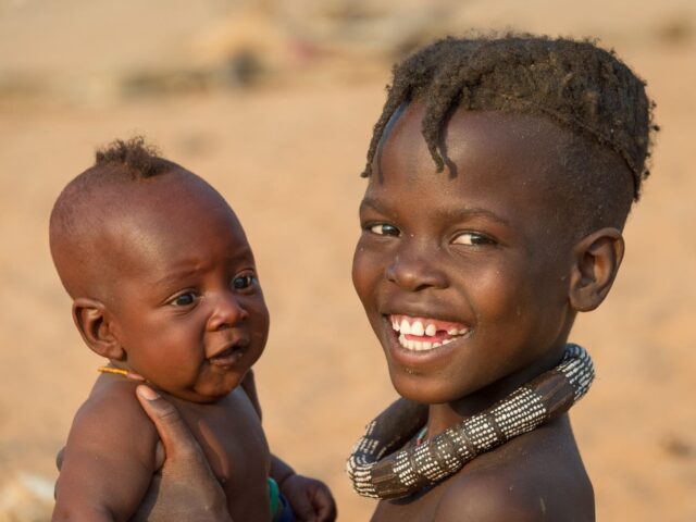
{"type": "Polygon", "coordinates": [[[650,109],[587,41],[448,38],[395,69],[352,269],[408,399],[348,463],[374,521],[594,520],[568,338],[621,264],[650,109]]]}

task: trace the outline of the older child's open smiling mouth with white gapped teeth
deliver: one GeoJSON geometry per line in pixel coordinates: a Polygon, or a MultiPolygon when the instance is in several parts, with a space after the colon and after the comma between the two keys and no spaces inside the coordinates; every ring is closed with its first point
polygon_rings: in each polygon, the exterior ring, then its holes
{"type": "Polygon", "coordinates": [[[388,315],[399,345],[407,350],[427,351],[448,345],[471,328],[462,323],[411,315],[388,315]]]}

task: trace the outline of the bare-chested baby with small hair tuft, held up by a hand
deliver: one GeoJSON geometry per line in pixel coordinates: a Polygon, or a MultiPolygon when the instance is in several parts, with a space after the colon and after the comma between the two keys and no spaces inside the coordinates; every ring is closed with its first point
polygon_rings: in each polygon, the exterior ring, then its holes
{"type": "Polygon", "coordinates": [[[142,380],[177,407],[232,520],[295,520],[291,507],[307,505],[312,520],[333,520],[328,488],[269,450],[251,373],[269,312],[251,247],[215,189],[140,138],[115,141],[58,198],[50,246],[75,325],[109,360],[75,415],[53,520],[158,511],[165,456],[135,395],[142,380]]]}

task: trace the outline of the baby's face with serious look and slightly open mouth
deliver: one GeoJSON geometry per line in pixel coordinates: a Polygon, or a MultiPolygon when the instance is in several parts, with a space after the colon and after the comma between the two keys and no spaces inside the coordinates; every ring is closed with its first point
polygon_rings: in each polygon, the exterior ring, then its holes
{"type": "Polygon", "coordinates": [[[241,382],[265,346],[253,254],[212,189],[148,183],[152,194],[134,195],[125,203],[132,217],[109,235],[119,252],[112,331],[130,369],[175,396],[212,401],[241,382]]]}

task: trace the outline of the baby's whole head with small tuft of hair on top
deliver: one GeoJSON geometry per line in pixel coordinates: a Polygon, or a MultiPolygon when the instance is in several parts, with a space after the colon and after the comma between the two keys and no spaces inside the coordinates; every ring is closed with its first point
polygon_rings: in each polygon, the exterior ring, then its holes
{"type": "Polygon", "coordinates": [[[63,189],[50,246],[85,343],[116,366],[209,402],[261,356],[269,313],[239,221],[142,139],[97,152],[63,189]]]}

